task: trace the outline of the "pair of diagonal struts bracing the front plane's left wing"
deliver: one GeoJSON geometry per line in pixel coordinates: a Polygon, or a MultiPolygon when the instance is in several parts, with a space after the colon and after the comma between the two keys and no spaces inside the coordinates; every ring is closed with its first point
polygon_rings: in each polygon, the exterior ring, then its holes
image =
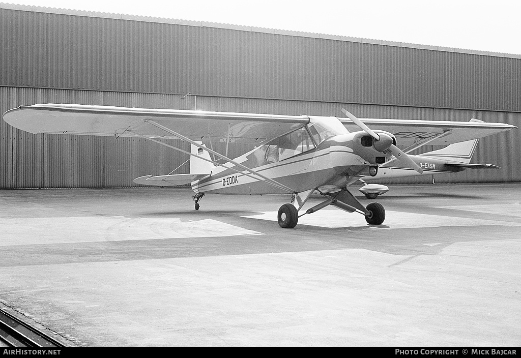
{"type": "MultiPolygon", "coordinates": [[[[254,171],[253,169],[248,168],[248,167],[245,167],[245,166],[242,165],[241,163],[235,162],[234,160],[231,160],[230,158],[225,157],[225,156],[219,154],[219,153],[216,152],[215,150],[212,150],[212,149],[210,149],[210,148],[204,147],[202,144],[199,144],[199,143],[197,143],[197,142],[194,142],[192,139],[190,139],[190,138],[188,138],[188,137],[185,137],[185,136],[183,136],[183,135],[181,135],[181,134],[179,134],[179,133],[177,133],[177,132],[174,132],[174,131],[172,131],[171,129],[169,129],[169,128],[163,126],[163,125],[160,125],[160,124],[158,124],[158,123],[156,123],[156,122],[154,122],[154,121],[148,120],[148,119],[145,119],[144,122],[145,122],[145,123],[152,124],[152,125],[154,125],[154,126],[160,128],[160,129],[164,130],[165,132],[168,132],[168,133],[173,134],[173,135],[175,135],[175,136],[177,136],[177,137],[179,137],[179,138],[181,138],[181,139],[183,139],[183,140],[186,140],[188,143],[193,144],[194,146],[199,147],[199,148],[201,148],[201,149],[203,149],[203,150],[206,150],[206,151],[208,151],[209,153],[213,154],[214,156],[217,156],[217,157],[219,157],[219,158],[221,158],[221,159],[224,159],[224,160],[226,160],[227,162],[229,162],[229,163],[235,165],[236,167],[239,167],[239,168],[241,168],[241,169],[243,169],[243,170],[245,170],[245,171],[247,171],[247,172],[249,172],[249,173],[251,173],[251,174],[247,174],[247,173],[241,172],[240,170],[235,169],[235,168],[226,167],[226,165],[224,165],[224,164],[221,164],[221,163],[215,162],[215,161],[213,161],[213,160],[208,160],[208,159],[205,159],[205,158],[203,158],[203,157],[197,157],[197,158],[199,158],[199,159],[204,159],[204,160],[206,160],[206,161],[208,161],[208,162],[210,162],[210,163],[213,163],[213,164],[219,165],[220,167],[223,167],[223,168],[226,168],[226,169],[231,169],[231,170],[233,170],[233,171],[235,171],[235,172],[237,172],[237,173],[239,173],[239,174],[243,174],[243,175],[249,176],[249,177],[251,177],[251,178],[253,178],[253,179],[255,179],[255,180],[263,180],[263,181],[266,182],[267,184],[270,184],[270,185],[272,185],[272,186],[274,186],[274,187],[276,187],[276,188],[278,188],[278,189],[282,189],[282,190],[284,190],[284,191],[287,191],[288,193],[291,193],[291,194],[294,194],[294,193],[295,193],[295,190],[291,189],[290,187],[288,187],[288,186],[286,186],[286,185],[284,185],[284,184],[281,184],[281,183],[279,183],[279,182],[276,182],[275,180],[273,180],[273,179],[271,179],[271,178],[268,178],[268,177],[266,177],[266,176],[264,176],[264,175],[262,175],[262,174],[259,174],[259,173],[257,173],[256,171],[254,171]],[[252,174],[253,174],[253,175],[252,175],[252,174]],[[256,175],[257,177],[255,177],[254,175],[256,175]],[[259,179],[259,178],[260,178],[260,179],[259,179]]],[[[133,132],[133,133],[136,134],[136,135],[139,135],[140,137],[146,138],[146,139],[148,139],[148,140],[152,140],[152,142],[155,142],[155,143],[158,143],[158,144],[161,144],[161,145],[165,145],[165,146],[167,146],[167,147],[169,147],[169,148],[176,149],[176,150],[181,151],[181,152],[183,152],[183,153],[185,153],[185,154],[192,155],[191,153],[189,153],[189,152],[187,152],[187,151],[184,151],[184,150],[182,150],[182,149],[180,149],[180,148],[177,148],[177,147],[174,147],[174,146],[170,146],[170,145],[168,145],[168,144],[166,144],[166,143],[163,143],[163,142],[159,142],[158,140],[154,140],[154,139],[152,139],[152,138],[149,138],[149,137],[144,136],[144,135],[139,134],[139,133],[135,133],[135,132],[133,132]]]]}

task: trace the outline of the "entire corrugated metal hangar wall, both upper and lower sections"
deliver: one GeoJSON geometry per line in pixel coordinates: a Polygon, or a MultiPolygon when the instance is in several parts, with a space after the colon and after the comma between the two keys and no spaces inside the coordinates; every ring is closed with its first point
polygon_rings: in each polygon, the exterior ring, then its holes
{"type": "MultiPolygon", "coordinates": [[[[337,117],[346,107],[361,118],[514,125],[521,119],[517,55],[7,4],[0,4],[0,49],[2,113],[76,103],[337,117]]],[[[188,171],[188,156],[141,138],[32,135],[3,121],[0,130],[0,188],[134,186],[137,176],[180,165],[176,173],[188,171]]],[[[520,144],[517,130],[482,139],[473,162],[501,170],[436,181],[521,181],[520,144]]],[[[230,149],[233,156],[246,148],[230,149]]]]}

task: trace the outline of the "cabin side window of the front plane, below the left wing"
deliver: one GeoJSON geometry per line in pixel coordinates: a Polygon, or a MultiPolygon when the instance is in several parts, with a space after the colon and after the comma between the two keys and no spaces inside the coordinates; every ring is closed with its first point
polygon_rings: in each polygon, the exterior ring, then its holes
{"type": "Polygon", "coordinates": [[[270,163],[288,159],[315,148],[305,127],[278,137],[263,147],[266,148],[265,158],[270,163]]]}

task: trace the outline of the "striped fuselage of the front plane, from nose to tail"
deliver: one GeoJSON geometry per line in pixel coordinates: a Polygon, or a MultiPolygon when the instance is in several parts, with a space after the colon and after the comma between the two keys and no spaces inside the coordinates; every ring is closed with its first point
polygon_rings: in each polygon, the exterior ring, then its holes
{"type": "MultiPolygon", "coordinates": [[[[323,186],[345,187],[354,176],[368,174],[368,165],[377,165],[377,161],[390,158],[390,154],[384,158],[381,152],[365,144],[363,141],[369,139],[363,137],[367,137],[365,132],[333,136],[315,148],[278,161],[270,158],[272,148],[263,145],[235,161],[299,193],[323,186]]],[[[287,193],[281,189],[274,190],[268,183],[245,175],[246,171],[241,170],[239,173],[233,170],[238,168],[232,164],[226,166],[230,169],[215,168],[210,177],[193,182],[192,189],[212,194],[287,193]]]]}

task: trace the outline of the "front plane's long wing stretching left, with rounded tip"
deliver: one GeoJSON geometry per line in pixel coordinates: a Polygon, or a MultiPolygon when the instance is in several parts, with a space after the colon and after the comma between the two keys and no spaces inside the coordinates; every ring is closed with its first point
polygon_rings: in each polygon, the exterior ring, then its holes
{"type": "Polygon", "coordinates": [[[20,106],[5,112],[3,118],[30,133],[178,138],[147,123],[150,120],[193,140],[206,137],[251,143],[278,137],[309,122],[306,116],[70,104],[20,106]]]}

